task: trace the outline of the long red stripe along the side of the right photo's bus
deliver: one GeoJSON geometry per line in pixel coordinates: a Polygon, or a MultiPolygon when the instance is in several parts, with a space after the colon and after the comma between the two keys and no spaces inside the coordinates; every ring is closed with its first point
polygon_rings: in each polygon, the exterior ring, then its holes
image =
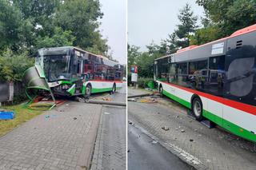
{"type": "Polygon", "coordinates": [[[161,82],[165,83],[167,85],[177,87],[178,89],[186,90],[190,93],[198,94],[198,96],[206,97],[206,98],[208,98],[212,101],[218,101],[218,102],[222,103],[223,105],[228,105],[232,108],[242,110],[243,112],[250,113],[252,115],[256,115],[256,107],[253,106],[253,105],[247,105],[247,104],[244,104],[244,103],[240,103],[238,101],[232,101],[230,99],[226,99],[226,98],[222,98],[222,97],[216,97],[216,96],[208,94],[208,93],[199,92],[198,90],[189,89],[189,88],[182,87],[182,86],[179,86],[179,85],[174,85],[174,84],[171,84],[171,83],[168,83],[168,82],[163,82],[163,81],[161,81],[161,82]]]}

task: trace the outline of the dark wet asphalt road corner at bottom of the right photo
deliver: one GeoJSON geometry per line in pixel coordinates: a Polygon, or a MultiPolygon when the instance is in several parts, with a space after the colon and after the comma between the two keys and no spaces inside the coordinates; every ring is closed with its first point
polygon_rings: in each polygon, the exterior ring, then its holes
{"type": "Polygon", "coordinates": [[[128,125],[129,170],[186,170],[194,169],[163,148],[134,125],[128,125]]]}

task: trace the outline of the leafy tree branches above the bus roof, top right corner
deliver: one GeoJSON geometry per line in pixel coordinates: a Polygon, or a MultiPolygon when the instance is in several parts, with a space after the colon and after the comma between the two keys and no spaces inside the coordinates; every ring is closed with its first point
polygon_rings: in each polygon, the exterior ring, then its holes
{"type": "Polygon", "coordinates": [[[222,37],[256,22],[256,1],[197,0],[197,3],[206,10],[210,21],[218,26],[222,37]]]}

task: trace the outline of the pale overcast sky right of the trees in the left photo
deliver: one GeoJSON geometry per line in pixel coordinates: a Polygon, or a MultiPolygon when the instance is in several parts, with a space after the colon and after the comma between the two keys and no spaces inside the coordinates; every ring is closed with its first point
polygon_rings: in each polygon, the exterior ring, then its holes
{"type": "Polygon", "coordinates": [[[126,0],[100,0],[103,18],[100,30],[113,51],[112,56],[126,64],[126,0]]]}

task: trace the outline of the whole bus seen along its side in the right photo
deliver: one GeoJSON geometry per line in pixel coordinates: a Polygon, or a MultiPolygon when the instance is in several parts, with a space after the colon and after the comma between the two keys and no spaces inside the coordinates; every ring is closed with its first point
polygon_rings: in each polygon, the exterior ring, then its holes
{"type": "Polygon", "coordinates": [[[256,25],[156,59],[154,79],[198,121],[256,141],[256,25]]]}

